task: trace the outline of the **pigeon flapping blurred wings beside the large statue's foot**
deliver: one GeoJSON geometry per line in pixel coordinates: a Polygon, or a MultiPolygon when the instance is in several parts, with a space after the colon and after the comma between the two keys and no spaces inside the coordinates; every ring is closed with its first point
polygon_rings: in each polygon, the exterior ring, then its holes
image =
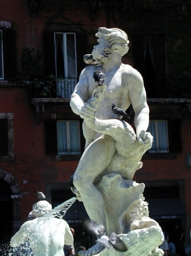
{"type": "Polygon", "coordinates": [[[127,247],[124,242],[117,236],[116,233],[111,233],[109,236],[105,233],[105,227],[95,221],[84,220],[83,226],[94,233],[97,236],[96,242],[103,245],[104,247],[109,248],[109,244],[111,244],[118,251],[127,251],[127,247]]]}

